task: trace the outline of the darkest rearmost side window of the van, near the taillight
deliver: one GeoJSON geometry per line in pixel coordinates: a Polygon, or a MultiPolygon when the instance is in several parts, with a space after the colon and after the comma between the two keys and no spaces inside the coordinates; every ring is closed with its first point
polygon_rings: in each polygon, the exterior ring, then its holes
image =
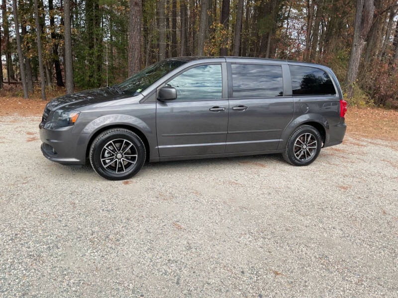
{"type": "Polygon", "coordinates": [[[289,66],[293,95],[334,95],[332,80],[324,71],[305,66],[289,66]]]}

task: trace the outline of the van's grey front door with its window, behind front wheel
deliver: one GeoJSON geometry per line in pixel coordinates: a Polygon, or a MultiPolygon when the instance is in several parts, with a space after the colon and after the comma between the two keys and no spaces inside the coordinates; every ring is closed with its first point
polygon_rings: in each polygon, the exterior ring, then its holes
{"type": "Polygon", "coordinates": [[[224,96],[222,92],[222,75],[226,75],[225,63],[206,64],[194,66],[166,82],[176,88],[177,99],[156,103],[160,157],[225,151],[228,100],[226,86],[224,96]]]}

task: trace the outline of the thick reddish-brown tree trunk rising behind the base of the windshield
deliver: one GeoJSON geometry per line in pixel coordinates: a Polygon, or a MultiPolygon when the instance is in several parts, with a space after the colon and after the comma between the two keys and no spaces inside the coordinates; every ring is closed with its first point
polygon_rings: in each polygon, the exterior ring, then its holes
{"type": "Polygon", "coordinates": [[[128,75],[131,76],[141,69],[141,0],[130,0],[128,20],[128,75]]]}

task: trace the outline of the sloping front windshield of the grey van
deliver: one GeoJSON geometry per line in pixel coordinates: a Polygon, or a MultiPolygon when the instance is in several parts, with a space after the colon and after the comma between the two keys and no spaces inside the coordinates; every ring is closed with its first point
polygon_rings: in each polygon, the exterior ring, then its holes
{"type": "Polygon", "coordinates": [[[117,87],[122,91],[130,91],[134,94],[142,92],[163,75],[171,72],[185,63],[187,63],[187,61],[180,59],[168,59],[160,61],[129,77],[124,82],[118,84],[117,87]]]}

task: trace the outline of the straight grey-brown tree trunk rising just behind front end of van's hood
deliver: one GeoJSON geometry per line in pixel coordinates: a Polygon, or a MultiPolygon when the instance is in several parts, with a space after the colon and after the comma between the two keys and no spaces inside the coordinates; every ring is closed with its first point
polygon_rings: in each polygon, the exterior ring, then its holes
{"type": "MultiPolygon", "coordinates": [[[[36,0],[35,0],[36,1],[36,0]]],[[[64,2],[65,84],[66,93],[73,93],[71,0],[64,2]]]]}

